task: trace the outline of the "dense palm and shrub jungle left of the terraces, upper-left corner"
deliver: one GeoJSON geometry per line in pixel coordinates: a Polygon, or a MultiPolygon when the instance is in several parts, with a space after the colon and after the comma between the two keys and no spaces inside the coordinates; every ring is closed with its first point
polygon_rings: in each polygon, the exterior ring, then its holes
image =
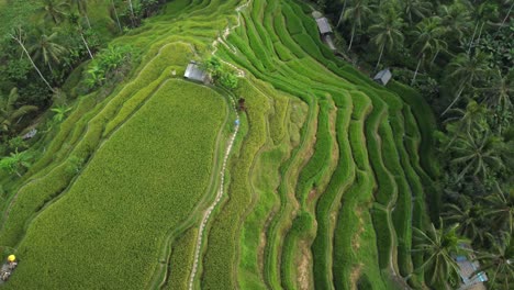
{"type": "MultiPolygon", "coordinates": [[[[0,156],[27,149],[30,146],[19,135],[38,123],[45,122],[46,131],[55,129],[77,96],[99,86],[104,86],[107,96],[128,72],[131,63],[135,62],[131,56],[136,57],[136,52],[130,46],[104,43],[141,25],[164,3],[159,0],[1,1],[0,156]],[[86,77],[81,79],[82,75],[86,77]],[[52,113],[54,118],[37,118],[52,113]]],[[[38,153],[26,155],[36,158],[38,153]]],[[[9,166],[2,168],[11,170],[9,166]]]]}

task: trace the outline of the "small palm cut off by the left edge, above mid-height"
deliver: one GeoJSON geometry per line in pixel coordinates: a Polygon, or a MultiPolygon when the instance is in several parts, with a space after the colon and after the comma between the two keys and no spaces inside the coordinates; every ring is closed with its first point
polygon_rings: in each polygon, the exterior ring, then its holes
{"type": "Polygon", "coordinates": [[[20,98],[18,89],[13,88],[7,98],[0,98],[0,132],[7,138],[12,133],[12,125],[23,115],[37,111],[35,105],[22,105],[15,108],[14,104],[20,98]]]}

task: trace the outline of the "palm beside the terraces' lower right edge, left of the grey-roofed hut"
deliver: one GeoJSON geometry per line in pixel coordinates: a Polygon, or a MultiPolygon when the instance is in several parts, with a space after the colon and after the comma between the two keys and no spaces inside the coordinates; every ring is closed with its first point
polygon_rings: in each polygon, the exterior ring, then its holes
{"type": "Polygon", "coordinates": [[[420,241],[414,250],[425,254],[425,263],[418,270],[431,275],[433,286],[445,286],[450,277],[458,277],[459,267],[452,255],[463,253],[462,245],[468,242],[457,234],[457,227],[458,224],[444,228],[443,221],[439,228],[433,223],[425,231],[414,227],[415,238],[420,241]]]}

